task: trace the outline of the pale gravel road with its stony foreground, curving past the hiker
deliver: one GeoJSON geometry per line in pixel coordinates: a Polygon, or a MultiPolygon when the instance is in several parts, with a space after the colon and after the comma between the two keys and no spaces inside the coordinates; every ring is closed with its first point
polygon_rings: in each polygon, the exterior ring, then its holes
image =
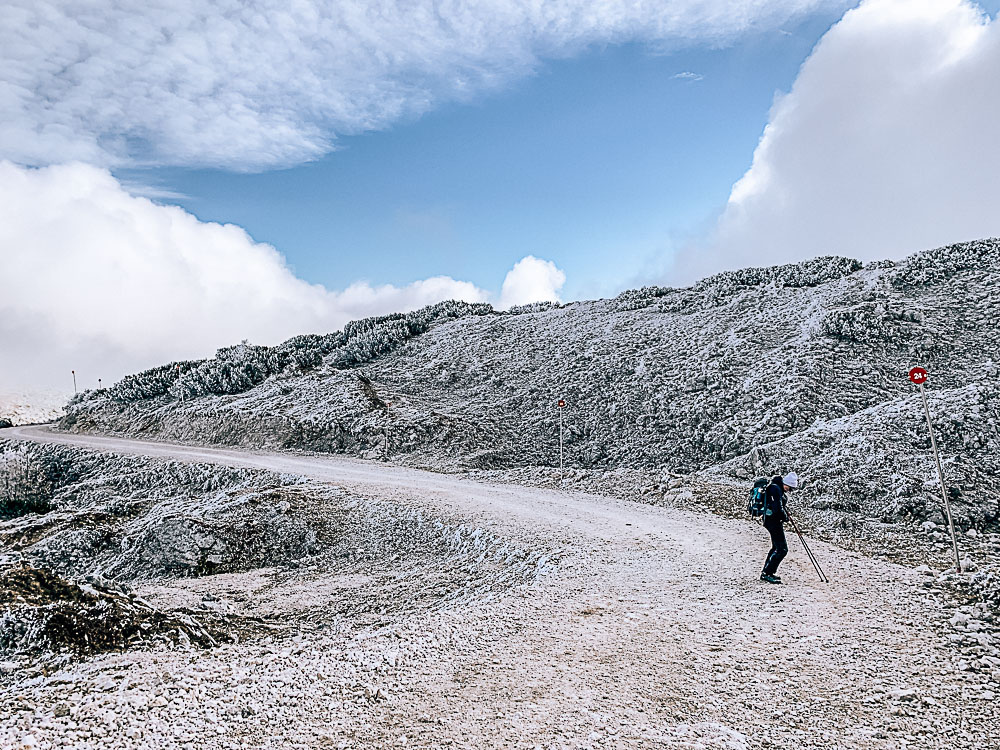
{"type": "MultiPolygon", "coordinates": [[[[336,577],[275,574],[292,627],[20,676],[3,747],[998,747],[1000,669],[959,669],[917,571],[814,541],[822,584],[792,539],[769,586],[750,522],[329,456],[0,435],[302,475],[539,551],[525,585],[374,621],[301,615],[336,577]]],[[[253,598],[266,575],[150,593],[253,598]]]]}

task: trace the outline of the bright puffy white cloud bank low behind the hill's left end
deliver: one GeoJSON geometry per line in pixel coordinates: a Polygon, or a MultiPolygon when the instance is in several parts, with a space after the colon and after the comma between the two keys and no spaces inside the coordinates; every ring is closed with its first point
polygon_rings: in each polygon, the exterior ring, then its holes
{"type": "Polygon", "coordinates": [[[129,194],[106,170],[0,162],[0,388],[107,384],[243,339],[273,344],[442,299],[448,277],[330,291],[270,245],[129,194]]]}

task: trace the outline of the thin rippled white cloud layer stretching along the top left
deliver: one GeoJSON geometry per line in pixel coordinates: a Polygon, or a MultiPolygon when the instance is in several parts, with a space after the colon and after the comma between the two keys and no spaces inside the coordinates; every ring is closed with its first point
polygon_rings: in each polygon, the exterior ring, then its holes
{"type": "Polygon", "coordinates": [[[258,169],[623,41],[722,43],[845,0],[5,0],[0,158],[258,169]]]}

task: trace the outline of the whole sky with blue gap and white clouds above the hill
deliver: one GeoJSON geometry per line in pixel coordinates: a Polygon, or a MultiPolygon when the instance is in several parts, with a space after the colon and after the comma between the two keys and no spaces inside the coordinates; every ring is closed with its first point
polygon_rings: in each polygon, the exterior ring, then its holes
{"type": "Polygon", "coordinates": [[[1000,235],[998,4],[0,0],[0,391],[1000,235]]]}

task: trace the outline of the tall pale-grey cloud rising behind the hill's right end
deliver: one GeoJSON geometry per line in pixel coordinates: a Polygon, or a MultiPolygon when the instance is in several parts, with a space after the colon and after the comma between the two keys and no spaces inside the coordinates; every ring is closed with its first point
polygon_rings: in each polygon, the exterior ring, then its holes
{"type": "Polygon", "coordinates": [[[1000,26],[967,0],[866,0],[778,98],[685,281],[1000,235],[1000,26]]]}

